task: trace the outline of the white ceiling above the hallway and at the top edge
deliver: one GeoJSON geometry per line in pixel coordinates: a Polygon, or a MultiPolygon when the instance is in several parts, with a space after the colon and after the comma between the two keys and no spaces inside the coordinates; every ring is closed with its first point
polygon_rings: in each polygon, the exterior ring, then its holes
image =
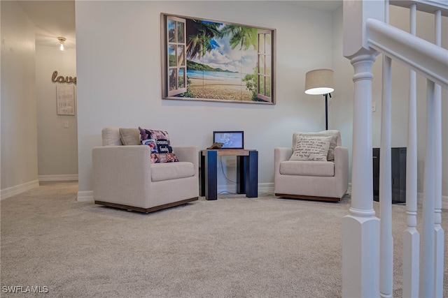
{"type": "MultiPolygon", "coordinates": [[[[151,1],[151,0],[150,0],[151,1]]],[[[166,0],[165,0],[166,1],[166,0]]],[[[75,1],[18,1],[36,25],[37,45],[59,45],[57,38],[66,38],[66,47],[76,47],[75,1]]],[[[290,5],[332,11],[342,6],[342,0],[283,1],[290,5]]]]}

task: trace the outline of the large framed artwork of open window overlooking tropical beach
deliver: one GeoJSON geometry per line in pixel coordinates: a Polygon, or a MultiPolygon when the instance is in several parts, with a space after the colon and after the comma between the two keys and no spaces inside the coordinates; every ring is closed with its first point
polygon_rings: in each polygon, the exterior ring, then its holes
{"type": "Polygon", "coordinates": [[[161,15],[162,98],[275,104],[275,29],[161,15]]]}

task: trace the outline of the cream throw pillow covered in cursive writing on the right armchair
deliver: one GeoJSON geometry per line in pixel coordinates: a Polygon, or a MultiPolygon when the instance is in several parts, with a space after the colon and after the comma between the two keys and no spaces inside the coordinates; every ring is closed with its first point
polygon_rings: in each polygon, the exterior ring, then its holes
{"type": "Polygon", "coordinates": [[[331,136],[311,137],[300,135],[290,161],[327,161],[331,136]]]}

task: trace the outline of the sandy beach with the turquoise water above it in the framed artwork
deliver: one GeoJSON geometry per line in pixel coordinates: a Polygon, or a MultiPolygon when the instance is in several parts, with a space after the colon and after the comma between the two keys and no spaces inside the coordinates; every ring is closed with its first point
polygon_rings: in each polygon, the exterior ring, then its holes
{"type": "Polygon", "coordinates": [[[225,100],[252,100],[252,92],[246,89],[239,73],[201,72],[192,75],[188,71],[190,92],[195,98],[225,99],[225,100]],[[207,75],[207,73],[215,73],[207,75]]]}

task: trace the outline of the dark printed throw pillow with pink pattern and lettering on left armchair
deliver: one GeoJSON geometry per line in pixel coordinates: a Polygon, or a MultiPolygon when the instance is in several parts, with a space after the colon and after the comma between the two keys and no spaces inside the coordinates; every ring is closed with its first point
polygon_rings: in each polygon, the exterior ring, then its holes
{"type": "Polygon", "coordinates": [[[141,144],[151,147],[151,163],[174,163],[179,161],[173,152],[167,131],[139,127],[141,144]]]}

